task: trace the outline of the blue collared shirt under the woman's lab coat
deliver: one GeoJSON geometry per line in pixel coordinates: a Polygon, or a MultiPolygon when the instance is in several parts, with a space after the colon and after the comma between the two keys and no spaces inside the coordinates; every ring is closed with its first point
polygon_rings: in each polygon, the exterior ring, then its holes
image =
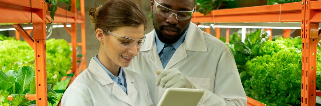
{"type": "Polygon", "coordinates": [[[104,67],[101,62],[97,58],[98,54],[94,57],[94,59],[98,62],[98,64],[107,72],[107,74],[110,76],[110,78],[115,81],[120,88],[124,90],[124,92],[127,94],[127,85],[126,85],[126,79],[125,74],[123,73],[123,68],[119,68],[119,75],[116,77],[114,74],[111,74],[110,71],[104,67]]]}

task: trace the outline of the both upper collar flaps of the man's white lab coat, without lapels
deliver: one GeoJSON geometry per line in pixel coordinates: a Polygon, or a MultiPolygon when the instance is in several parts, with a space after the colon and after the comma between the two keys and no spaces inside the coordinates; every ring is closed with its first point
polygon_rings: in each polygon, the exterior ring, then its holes
{"type": "MultiPolygon", "coordinates": [[[[155,29],[145,36],[146,40],[140,50],[142,52],[152,50],[153,46],[156,45],[155,29]]],[[[183,45],[185,50],[207,52],[203,31],[192,22],[189,24],[183,45]]]]}

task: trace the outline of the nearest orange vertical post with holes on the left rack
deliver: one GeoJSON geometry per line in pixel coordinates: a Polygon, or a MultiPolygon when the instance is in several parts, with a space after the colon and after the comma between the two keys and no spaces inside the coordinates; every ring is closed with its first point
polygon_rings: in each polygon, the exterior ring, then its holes
{"type": "Polygon", "coordinates": [[[42,19],[40,23],[33,23],[33,39],[35,46],[35,73],[37,106],[47,106],[47,65],[46,65],[46,6],[41,0],[41,9],[35,11],[42,19]]]}

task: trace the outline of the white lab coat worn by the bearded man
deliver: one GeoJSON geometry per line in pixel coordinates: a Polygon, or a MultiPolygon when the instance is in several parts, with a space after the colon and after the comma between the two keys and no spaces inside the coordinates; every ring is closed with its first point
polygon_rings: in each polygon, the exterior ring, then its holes
{"type": "Polygon", "coordinates": [[[172,68],[177,68],[196,88],[205,89],[198,105],[247,105],[233,54],[221,40],[190,23],[184,42],[163,69],[157,54],[155,30],[145,36],[145,43],[127,69],[144,77],[155,105],[164,93],[164,88],[155,85],[155,71],[172,68]]]}

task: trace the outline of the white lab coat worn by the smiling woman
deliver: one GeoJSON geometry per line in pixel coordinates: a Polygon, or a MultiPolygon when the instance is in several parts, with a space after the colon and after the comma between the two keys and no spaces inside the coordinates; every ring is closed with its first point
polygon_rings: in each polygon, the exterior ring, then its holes
{"type": "Polygon", "coordinates": [[[124,69],[127,93],[114,82],[106,71],[91,59],[89,67],[77,76],[66,89],[62,106],[152,106],[148,87],[143,77],[124,69]]]}

